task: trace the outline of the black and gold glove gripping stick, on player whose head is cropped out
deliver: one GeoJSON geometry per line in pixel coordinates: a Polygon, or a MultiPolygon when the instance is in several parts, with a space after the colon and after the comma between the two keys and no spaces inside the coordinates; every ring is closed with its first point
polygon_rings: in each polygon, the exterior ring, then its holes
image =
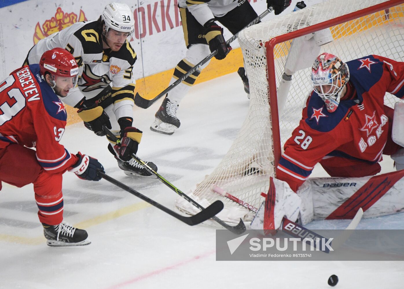
{"type": "Polygon", "coordinates": [[[231,46],[226,44],[223,37],[223,28],[217,25],[213,19],[206,22],[204,27],[206,28],[204,31],[205,39],[209,44],[210,52],[217,50],[215,58],[224,59],[230,52],[231,46]]]}

